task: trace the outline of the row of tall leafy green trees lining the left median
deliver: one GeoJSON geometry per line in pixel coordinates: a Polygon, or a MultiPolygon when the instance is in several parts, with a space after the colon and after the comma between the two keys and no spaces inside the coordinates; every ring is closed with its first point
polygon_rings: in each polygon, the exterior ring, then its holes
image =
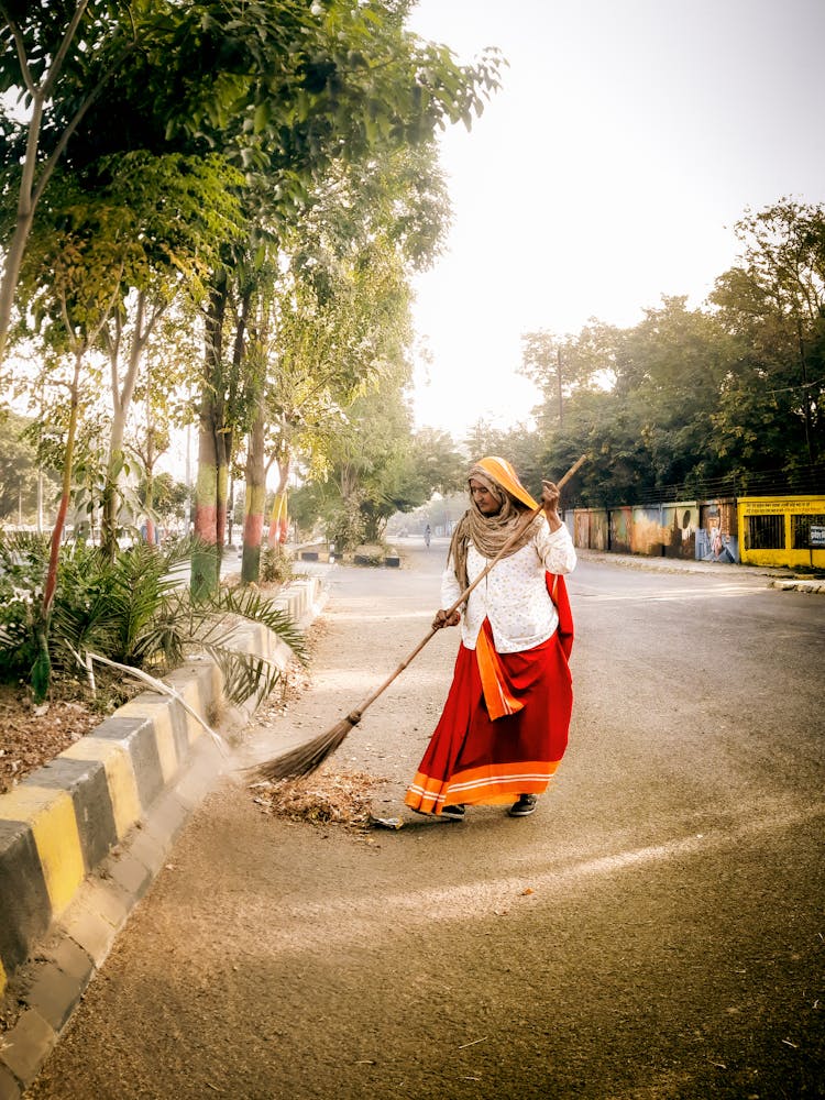
{"type": "Polygon", "coordinates": [[[297,447],[310,463],[322,454],[355,397],[388,374],[400,382],[406,280],[446,224],[433,138],[470,127],[501,66],[494,52],[459,65],[405,29],[407,7],[0,3],[0,371],[38,424],[59,410],[37,440],[38,464],[51,446],[61,479],[31,607],[38,695],[79,481],[102,556],[121,562],[130,480],[142,479],[151,539],[166,425],[195,425],[200,606],[218,595],[244,450],[252,582],[267,431],[268,462],[286,477],[297,447]],[[173,316],[190,339],[167,349],[173,316]],[[182,355],[186,343],[196,356],[182,355]],[[9,353],[35,370],[18,374],[9,353]],[[152,410],[145,438],[130,441],[135,397],[152,410]],[[89,450],[94,422],[107,437],[89,450]]]}

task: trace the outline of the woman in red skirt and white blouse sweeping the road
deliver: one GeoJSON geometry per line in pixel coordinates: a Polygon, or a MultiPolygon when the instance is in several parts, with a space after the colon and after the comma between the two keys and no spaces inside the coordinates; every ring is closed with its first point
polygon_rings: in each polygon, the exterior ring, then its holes
{"type": "Polygon", "coordinates": [[[452,685],[405,802],[419,813],[462,818],[466,805],[536,809],[564,755],[573,702],[568,657],[572,618],[562,573],[575,568],[559,491],[543,482],[543,514],[504,459],[469,475],[470,508],[459,521],[442,576],[433,628],[461,623],[452,685]],[[515,530],[519,538],[448,615],[515,530]]]}

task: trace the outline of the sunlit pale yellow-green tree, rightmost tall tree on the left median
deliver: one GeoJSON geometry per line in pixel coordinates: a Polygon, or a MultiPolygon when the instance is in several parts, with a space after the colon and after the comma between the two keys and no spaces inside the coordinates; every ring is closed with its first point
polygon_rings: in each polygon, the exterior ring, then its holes
{"type": "MultiPolygon", "coordinates": [[[[286,484],[300,457],[310,474],[326,474],[331,440],[344,429],[346,409],[400,362],[409,341],[407,273],[426,266],[443,234],[447,200],[431,145],[403,148],[362,165],[336,166],[307,210],[299,231],[285,238],[270,315],[271,333],[256,350],[265,367],[261,416],[253,424],[248,463],[249,538],[243,580],[256,579],[265,471],[277,464],[278,485],[270,537],[286,522],[286,484]],[[258,433],[265,417],[268,460],[258,433]]],[[[275,265],[273,265],[275,266],[275,265]]],[[[252,346],[250,348],[252,351],[252,346]]]]}

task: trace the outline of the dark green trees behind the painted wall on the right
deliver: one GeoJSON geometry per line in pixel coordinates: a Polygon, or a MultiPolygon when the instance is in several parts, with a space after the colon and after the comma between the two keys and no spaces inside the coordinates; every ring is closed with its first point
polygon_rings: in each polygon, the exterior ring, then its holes
{"type": "Polygon", "coordinates": [[[557,473],[590,455],[569,491],[580,504],[732,493],[757,475],[778,492],[821,484],[825,208],[782,200],[737,235],[710,308],[666,297],[629,329],[526,338],[543,397],[535,453],[557,473]]]}

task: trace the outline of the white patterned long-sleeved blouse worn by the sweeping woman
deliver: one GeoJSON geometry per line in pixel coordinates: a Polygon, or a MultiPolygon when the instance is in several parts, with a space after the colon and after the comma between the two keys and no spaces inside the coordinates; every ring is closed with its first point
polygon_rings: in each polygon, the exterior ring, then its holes
{"type": "MultiPolygon", "coordinates": [[[[575,561],[570,531],[562,524],[558,531],[551,532],[542,516],[532,539],[497,562],[470,593],[461,617],[461,638],[466,648],[475,649],[485,617],[490,618],[499,653],[518,653],[547,641],[559,625],[559,616],[547,591],[544,572],[571,573],[575,561]]],[[[487,559],[471,542],[466,560],[471,584],[486,564],[487,559]]],[[[441,606],[452,607],[460,595],[451,559],[441,576],[441,606]]]]}

